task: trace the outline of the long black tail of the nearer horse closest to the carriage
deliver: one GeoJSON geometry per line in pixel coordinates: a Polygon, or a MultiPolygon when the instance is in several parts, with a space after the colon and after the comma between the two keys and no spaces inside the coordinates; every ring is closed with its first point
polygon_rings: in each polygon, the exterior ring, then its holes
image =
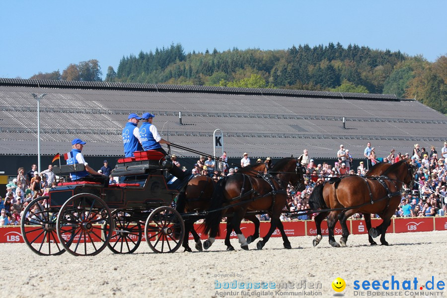
{"type": "Polygon", "coordinates": [[[226,178],[227,177],[219,180],[214,187],[213,195],[211,196],[210,212],[206,215],[203,222],[205,234],[209,233],[211,235],[219,236],[221,233],[219,224],[221,223],[223,210],[214,210],[220,209],[224,204],[224,188],[226,178]]]}

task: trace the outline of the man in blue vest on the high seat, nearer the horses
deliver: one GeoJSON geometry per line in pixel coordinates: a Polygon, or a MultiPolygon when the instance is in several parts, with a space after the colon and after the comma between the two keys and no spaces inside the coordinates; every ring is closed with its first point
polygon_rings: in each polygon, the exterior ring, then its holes
{"type": "MultiPolygon", "coordinates": [[[[141,121],[143,122],[140,127],[141,144],[145,151],[155,150],[163,153],[166,156],[168,154],[163,148],[161,148],[160,143],[166,145],[170,145],[171,143],[160,137],[157,128],[155,127],[155,125],[152,124],[153,117],[155,117],[155,115],[150,113],[144,113],[141,116],[141,121]]],[[[183,172],[179,167],[175,165],[169,170],[169,173],[181,180],[182,185],[194,177],[194,175],[183,172]]]]}

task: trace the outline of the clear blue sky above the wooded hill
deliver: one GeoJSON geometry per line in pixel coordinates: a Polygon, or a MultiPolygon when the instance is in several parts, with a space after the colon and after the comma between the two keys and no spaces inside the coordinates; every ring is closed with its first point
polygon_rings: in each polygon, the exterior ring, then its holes
{"type": "Polygon", "coordinates": [[[97,59],[105,75],[141,50],[287,49],[328,42],[447,54],[447,1],[4,0],[0,77],[29,78],[97,59]]]}

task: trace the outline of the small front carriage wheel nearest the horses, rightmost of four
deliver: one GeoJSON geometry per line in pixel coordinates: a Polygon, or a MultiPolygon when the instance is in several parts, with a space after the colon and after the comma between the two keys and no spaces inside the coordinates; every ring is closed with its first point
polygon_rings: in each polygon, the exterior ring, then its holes
{"type": "Polygon", "coordinates": [[[180,214],[171,207],[158,207],[146,220],[145,237],[153,252],[176,251],[182,245],[185,224],[180,214]]]}

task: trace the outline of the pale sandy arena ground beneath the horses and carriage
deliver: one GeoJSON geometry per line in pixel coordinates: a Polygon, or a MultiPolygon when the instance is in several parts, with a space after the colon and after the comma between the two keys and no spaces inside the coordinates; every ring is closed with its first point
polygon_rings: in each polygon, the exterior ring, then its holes
{"type": "MultiPolygon", "coordinates": [[[[0,244],[0,290],[8,298],[334,297],[339,293],[332,290],[331,283],[341,277],[346,282],[341,294],[358,297],[355,280],[360,284],[378,280],[381,284],[394,275],[402,287],[405,280],[413,282],[416,277],[419,288],[434,276],[435,285],[440,280],[447,284],[447,231],[388,234],[388,247],[367,245],[366,235],[351,235],[346,248],[330,247],[326,236],[313,247],[312,239],[293,237],[293,249],[287,250],[281,238],[272,238],[261,251],[254,243],[250,244],[252,250],[243,251],[234,239],[236,251],[232,252],[225,251],[223,240],[216,240],[211,251],[185,253],[180,248],[173,254],[152,253],[147,243],[142,243],[133,255],[113,254],[106,248],[92,257],[68,253],[44,257],[34,254],[26,244],[0,244]],[[216,280],[221,289],[215,289],[216,280]],[[238,287],[240,282],[274,282],[276,289],[223,289],[224,283],[234,281],[238,287]],[[295,288],[278,289],[280,283],[293,283],[295,288]],[[309,289],[311,284],[314,289],[309,289]],[[318,284],[320,288],[316,288],[318,284]]],[[[192,241],[190,246],[194,247],[192,241]]],[[[383,291],[373,292],[381,294],[375,297],[384,297],[383,291]]],[[[372,295],[362,292],[365,297],[372,295]]],[[[419,289],[408,293],[402,288],[400,293],[388,292],[398,297],[423,294],[419,289]]],[[[429,297],[447,297],[446,290],[428,292],[437,292],[429,297]]]]}

